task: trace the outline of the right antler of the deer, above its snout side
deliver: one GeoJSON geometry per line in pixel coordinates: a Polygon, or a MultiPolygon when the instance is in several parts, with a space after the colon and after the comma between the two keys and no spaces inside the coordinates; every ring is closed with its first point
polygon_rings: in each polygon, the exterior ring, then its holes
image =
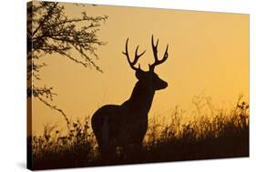
{"type": "Polygon", "coordinates": [[[149,70],[154,71],[155,66],[158,66],[162,63],[164,63],[168,58],[168,46],[166,46],[165,54],[161,60],[158,58],[158,46],[159,46],[159,39],[157,40],[156,46],[154,45],[154,36],[151,36],[151,44],[152,44],[152,50],[155,58],[155,62],[152,65],[149,65],[149,70]]]}

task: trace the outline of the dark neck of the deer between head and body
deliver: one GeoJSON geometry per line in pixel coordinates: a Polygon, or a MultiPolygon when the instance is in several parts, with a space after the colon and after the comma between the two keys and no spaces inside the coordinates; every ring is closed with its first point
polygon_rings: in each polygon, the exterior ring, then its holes
{"type": "Polygon", "coordinates": [[[155,90],[152,86],[137,82],[130,98],[124,104],[128,107],[128,111],[130,112],[148,115],[154,95],[155,90]]]}

